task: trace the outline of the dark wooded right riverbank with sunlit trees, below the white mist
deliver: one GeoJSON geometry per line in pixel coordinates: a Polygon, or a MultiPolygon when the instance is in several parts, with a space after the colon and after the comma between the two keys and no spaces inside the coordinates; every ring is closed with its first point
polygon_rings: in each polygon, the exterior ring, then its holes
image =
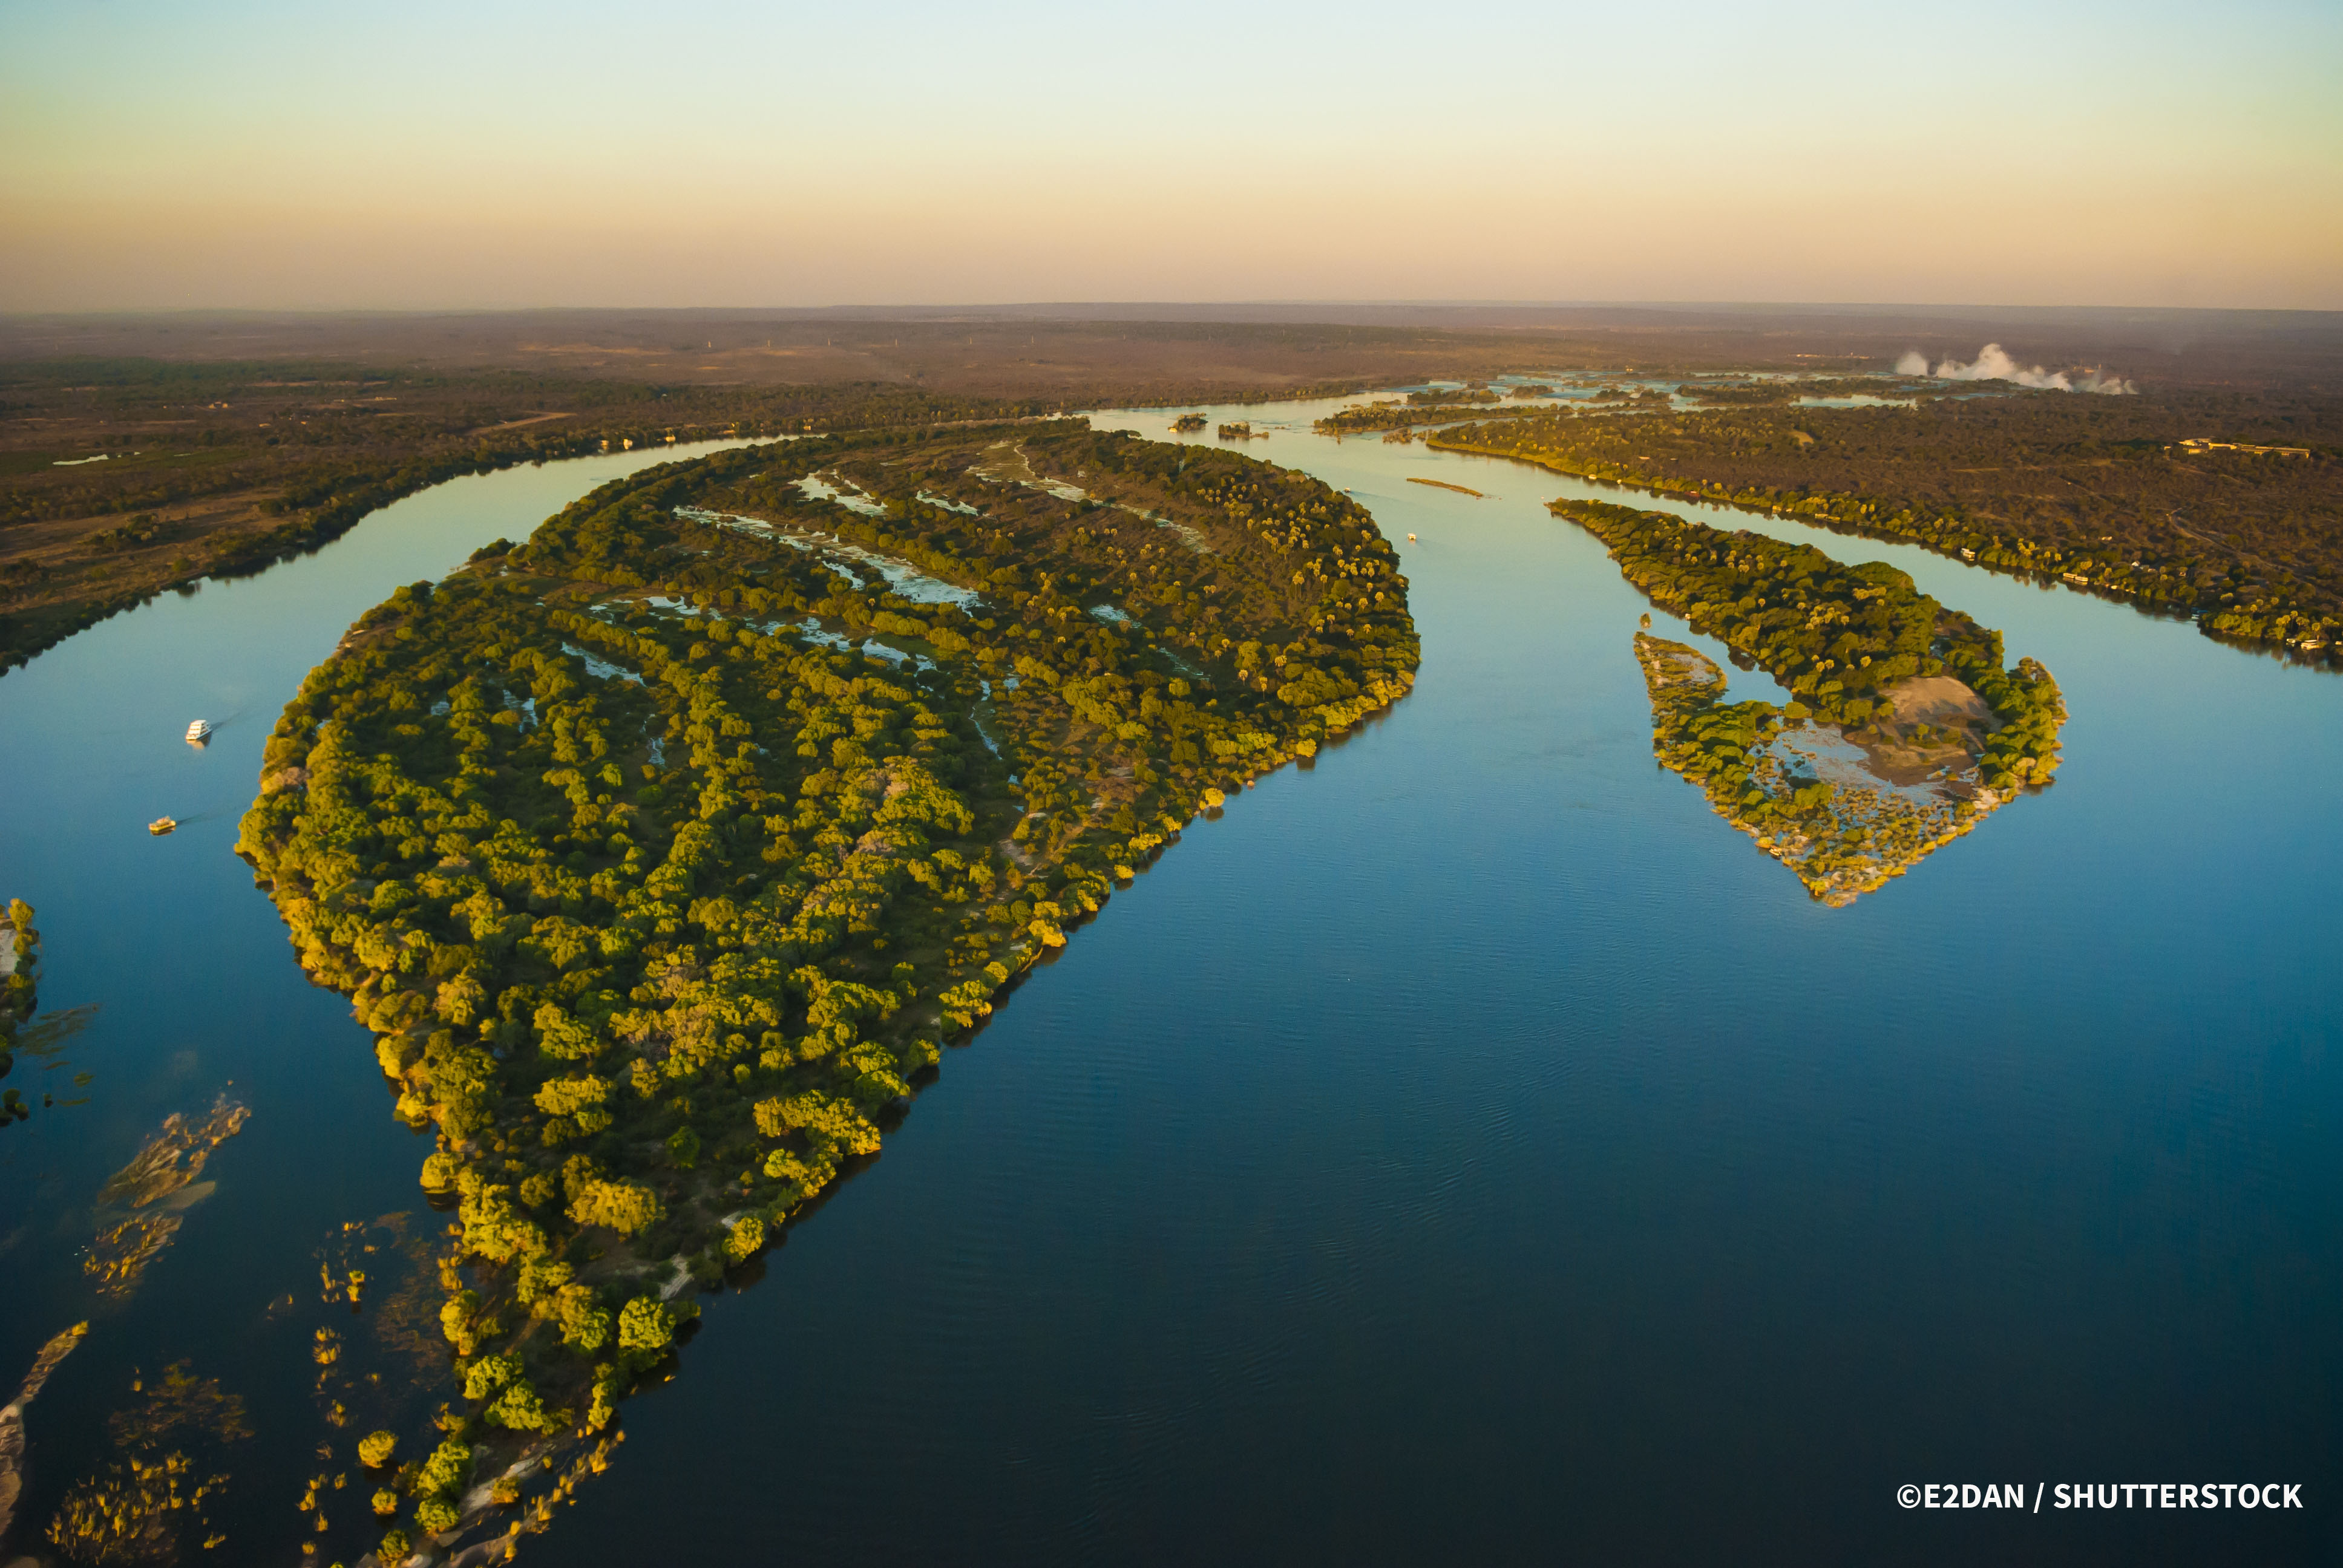
{"type": "Polygon", "coordinates": [[[2343,429],[2277,398],[2013,391],[1917,408],[1551,408],[1425,443],[1654,497],[1919,544],[1996,572],[2191,616],[2205,635],[2334,661],[2343,642],[2343,429]],[[2310,457],[2188,450],[2184,429],[2308,427],[2310,457]]]}

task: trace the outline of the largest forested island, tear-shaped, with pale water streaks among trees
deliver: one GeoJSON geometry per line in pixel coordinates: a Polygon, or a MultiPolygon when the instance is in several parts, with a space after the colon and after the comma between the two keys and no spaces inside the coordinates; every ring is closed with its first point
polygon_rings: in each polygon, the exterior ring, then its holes
{"type": "Polygon", "coordinates": [[[368,612],[241,851],[457,1207],[466,1399],[361,1446],[382,1556],[544,1521],[696,1282],[1183,823],[1415,661],[1357,504],[1082,424],[649,469],[368,612]]]}

